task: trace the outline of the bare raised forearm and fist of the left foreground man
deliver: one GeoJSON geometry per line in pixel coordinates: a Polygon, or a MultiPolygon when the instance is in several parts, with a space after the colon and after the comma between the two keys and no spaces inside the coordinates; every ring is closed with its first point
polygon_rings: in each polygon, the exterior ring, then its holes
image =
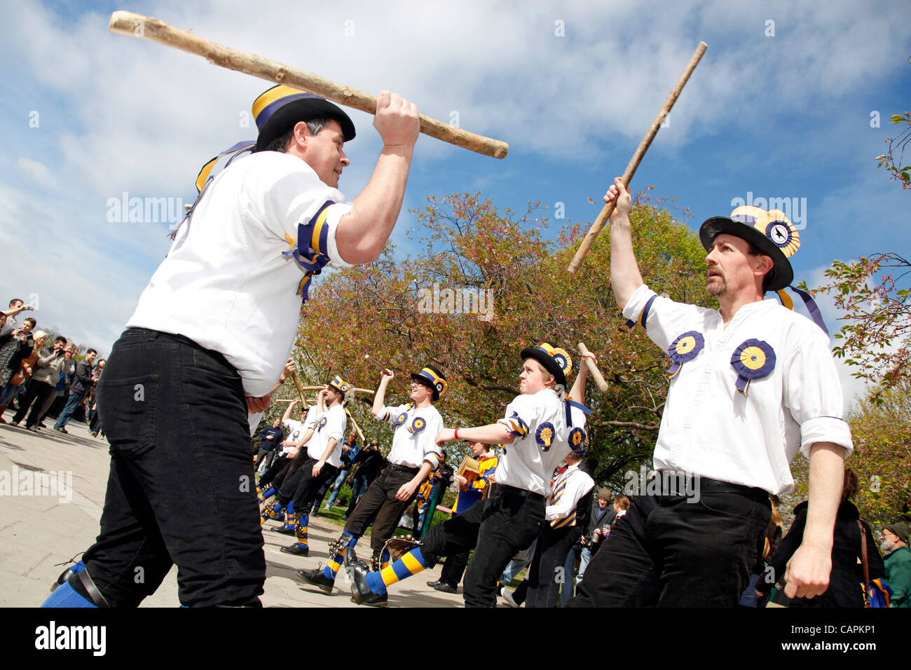
{"type": "Polygon", "coordinates": [[[383,139],[383,150],[366,188],[335,232],[346,263],[373,263],[393,232],[420,132],[417,107],[397,93],[383,91],[376,98],[374,128],[383,139]]]}

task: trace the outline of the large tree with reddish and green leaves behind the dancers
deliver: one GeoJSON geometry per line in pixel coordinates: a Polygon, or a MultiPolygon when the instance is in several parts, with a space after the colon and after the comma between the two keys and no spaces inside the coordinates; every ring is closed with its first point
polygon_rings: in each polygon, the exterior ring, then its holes
{"type": "MultiPolygon", "coordinates": [[[[704,251],[697,235],[658,201],[637,197],[631,220],[644,276],[659,293],[706,304],[704,251]]],[[[518,394],[519,350],[548,341],[578,366],[577,343],[599,356],[609,381],[589,384],[589,454],[595,479],[616,481],[650,460],[668,383],[666,356],[641,328],[624,325],[609,283],[609,239],[602,236],[585,269],[565,267],[584,230],[571,223],[546,239],[548,219],[497,211],[480,193],[428,198],[413,238],[420,251],[334,272],[311,290],[298,346],[320,379],[342,374],[375,387],[379,366],[399,377],[432,363],[449,389],[438,405],[447,426],[486,424],[518,394]],[[488,302],[489,300],[489,302],[488,302]],[[369,359],[364,356],[369,355],[369,359]]],[[[404,402],[393,384],[389,402],[404,402]]],[[[366,430],[366,428],[364,428],[366,430]]]]}

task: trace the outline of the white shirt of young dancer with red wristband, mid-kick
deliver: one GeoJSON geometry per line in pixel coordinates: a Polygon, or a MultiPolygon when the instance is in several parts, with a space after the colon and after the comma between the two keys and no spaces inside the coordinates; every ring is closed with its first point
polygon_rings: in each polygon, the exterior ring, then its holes
{"type": "MultiPolygon", "coordinates": [[[[585,427],[585,415],[575,407],[572,422],[573,428],[585,427]]],[[[503,445],[503,455],[496,466],[496,483],[547,496],[551,474],[569,453],[571,428],[567,426],[563,400],[549,388],[517,396],[507,406],[506,417],[497,423],[509,428],[516,439],[503,445]],[[548,431],[549,447],[545,439],[548,431]],[[544,447],[539,441],[545,443],[544,447]]]]}

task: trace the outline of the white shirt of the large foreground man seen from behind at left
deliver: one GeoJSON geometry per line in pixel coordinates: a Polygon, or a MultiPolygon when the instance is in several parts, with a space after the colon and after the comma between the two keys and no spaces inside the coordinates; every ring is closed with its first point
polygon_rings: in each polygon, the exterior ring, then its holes
{"type": "MultiPolygon", "coordinates": [[[[209,185],[168,257],[139,296],[128,327],[184,335],[220,352],[243,379],[244,392],[271,391],[291,354],[305,276],[282,252],[326,202],[343,201],[309,165],[261,151],[237,160],[209,185]]],[[[331,204],[322,242],[336,266],[350,267],[335,246],[346,204],[331,204]]],[[[303,249],[307,253],[308,249],[303,249]]]]}

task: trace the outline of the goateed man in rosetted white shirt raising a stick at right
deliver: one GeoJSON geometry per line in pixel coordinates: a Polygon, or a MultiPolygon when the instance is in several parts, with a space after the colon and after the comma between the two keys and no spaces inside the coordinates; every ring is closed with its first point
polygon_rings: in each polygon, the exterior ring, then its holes
{"type": "Polygon", "coordinates": [[[769,494],[793,490],[789,463],[798,450],[810,461],[807,533],[775,579],[787,582],[789,597],[824,593],[853,446],[828,337],[763,300],[793,280],[797,231],[783,212],[755,207],[704,222],[705,288],[716,311],[675,303],[643,283],[630,193],[619,178],[605,201],[617,203],[611,287],[630,324],[668,351],[670,389],[655,476],[639,483],[568,606],[735,606],[761,555],[769,494]]]}

